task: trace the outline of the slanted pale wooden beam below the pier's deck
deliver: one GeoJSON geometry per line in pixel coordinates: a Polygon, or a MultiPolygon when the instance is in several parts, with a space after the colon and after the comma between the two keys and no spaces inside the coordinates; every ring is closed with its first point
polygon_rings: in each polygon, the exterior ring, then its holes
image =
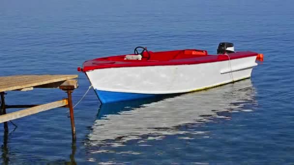
{"type": "Polygon", "coordinates": [[[15,111],[15,112],[12,112],[12,113],[1,115],[0,116],[0,123],[7,122],[7,121],[10,121],[10,120],[14,120],[14,119],[18,119],[18,118],[21,118],[21,117],[24,117],[24,116],[29,116],[29,115],[39,113],[39,112],[42,112],[42,111],[45,111],[45,110],[51,110],[51,109],[54,109],[54,108],[66,106],[66,105],[68,105],[68,100],[67,99],[62,99],[62,100],[59,100],[59,101],[43,104],[43,105],[36,106],[36,107],[33,107],[33,108],[28,108],[28,109],[25,109],[25,110],[15,111]]]}

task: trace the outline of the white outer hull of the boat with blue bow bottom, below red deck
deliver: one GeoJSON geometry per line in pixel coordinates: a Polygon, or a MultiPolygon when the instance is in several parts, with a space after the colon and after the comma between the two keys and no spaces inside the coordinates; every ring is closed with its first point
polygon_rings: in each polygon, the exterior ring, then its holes
{"type": "Polygon", "coordinates": [[[100,100],[107,103],[142,95],[192,92],[246,79],[257,65],[255,59],[250,56],[192,65],[95,69],[86,74],[100,100]]]}

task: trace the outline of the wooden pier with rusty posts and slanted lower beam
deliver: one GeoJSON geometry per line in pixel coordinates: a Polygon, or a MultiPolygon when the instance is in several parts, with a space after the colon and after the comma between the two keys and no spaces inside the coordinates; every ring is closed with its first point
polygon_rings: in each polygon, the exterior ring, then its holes
{"type": "Polygon", "coordinates": [[[7,122],[45,110],[58,107],[69,108],[72,126],[72,137],[75,140],[72,92],[78,87],[77,75],[21,75],[0,77],[0,123],[4,123],[4,131],[8,132],[7,122]],[[67,98],[43,105],[6,105],[5,95],[8,91],[28,91],[34,88],[59,88],[66,91],[67,98]],[[27,108],[6,113],[9,108],[27,108]]]}

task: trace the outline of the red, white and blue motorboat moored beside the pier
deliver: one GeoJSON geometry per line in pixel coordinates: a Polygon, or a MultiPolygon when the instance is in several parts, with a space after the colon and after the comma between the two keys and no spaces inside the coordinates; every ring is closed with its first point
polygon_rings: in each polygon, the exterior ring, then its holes
{"type": "Polygon", "coordinates": [[[221,42],[217,55],[206,50],[164,52],[136,47],[134,54],[85,61],[86,73],[102,103],[180,94],[250,78],[258,53],[235,52],[221,42]]]}

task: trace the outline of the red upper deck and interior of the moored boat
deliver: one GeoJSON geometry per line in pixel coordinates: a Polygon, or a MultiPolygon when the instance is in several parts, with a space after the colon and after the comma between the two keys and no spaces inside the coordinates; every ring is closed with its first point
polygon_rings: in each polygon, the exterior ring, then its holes
{"type": "MultiPolygon", "coordinates": [[[[207,51],[186,49],[165,52],[143,53],[142,60],[126,60],[126,55],[96,58],[84,62],[83,71],[120,67],[145,67],[165,65],[191,65],[229,60],[227,55],[207,55],[207,51]]],[[[255,52],[236,52],[229,54],[230,59],[257,56],[255,52]]]]}

